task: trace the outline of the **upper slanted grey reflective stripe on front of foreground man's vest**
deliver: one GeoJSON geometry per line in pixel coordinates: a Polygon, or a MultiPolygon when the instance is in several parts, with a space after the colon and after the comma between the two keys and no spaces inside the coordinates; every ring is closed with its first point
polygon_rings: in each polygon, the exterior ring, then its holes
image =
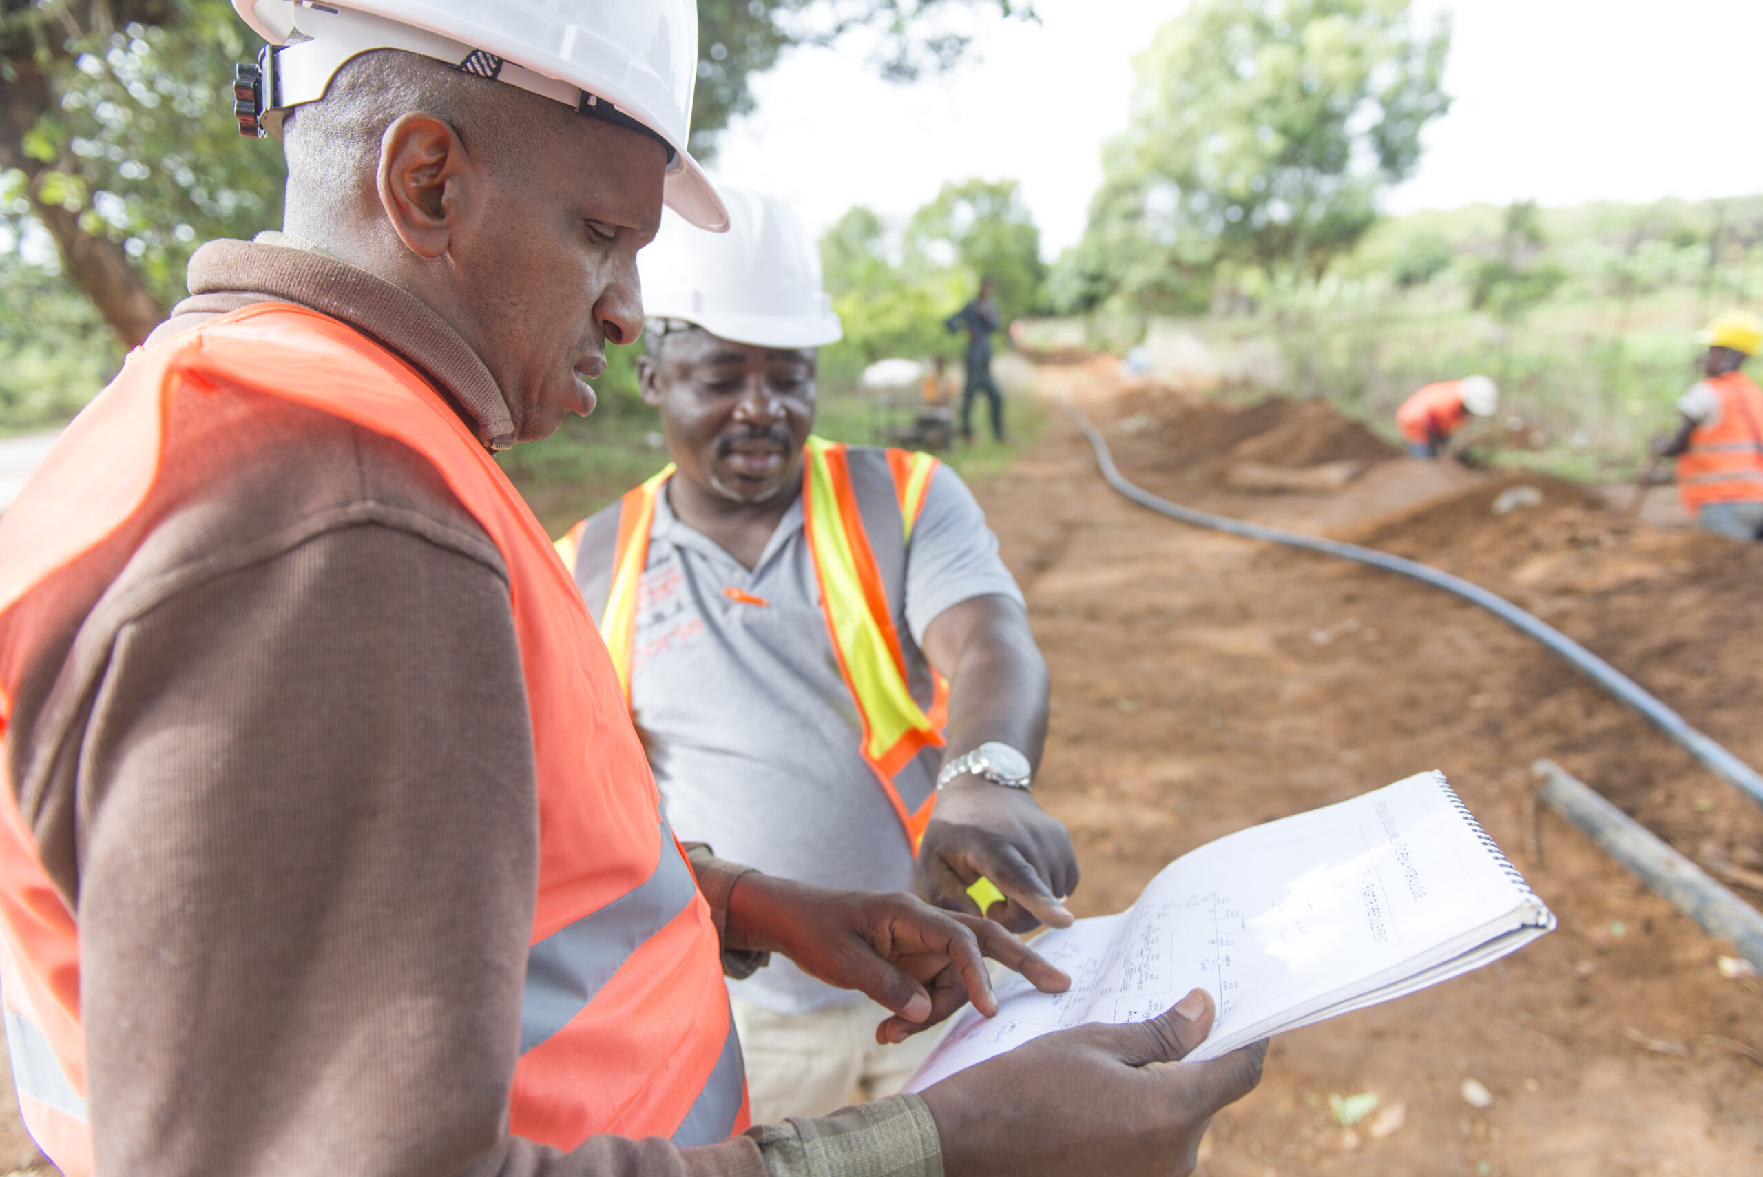
{"type": "Polygon", "coordinates": [[[568,1025],[624,960],[665,929],[698,881],[661,825],[661,860],[642,886],[619,895],[527,950],[527,987],[520,997],[520,1054],[568,1025]]]}

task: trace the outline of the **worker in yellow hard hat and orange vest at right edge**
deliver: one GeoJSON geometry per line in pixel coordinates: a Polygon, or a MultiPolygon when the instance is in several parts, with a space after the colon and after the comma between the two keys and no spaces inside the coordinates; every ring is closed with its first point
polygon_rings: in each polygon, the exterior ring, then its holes
{"type": "Polygon", "coordinates": [[[1677,458],[1677,488],[1696,527],[1763,539],[1763,391],[1740,372],[1763,347],[1763,319],[1724,314],[1701,342],[1707,379],[1678,398],[1682,425],[1654,453],[1677,458]]]}

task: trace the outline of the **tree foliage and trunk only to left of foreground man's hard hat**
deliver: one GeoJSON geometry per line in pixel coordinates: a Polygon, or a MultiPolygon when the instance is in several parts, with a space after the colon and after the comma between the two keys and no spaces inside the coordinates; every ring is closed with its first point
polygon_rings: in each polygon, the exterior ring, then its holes
{"type": "Polygon", "coordinates": [[[243,152],[220,88],[254,51],[224,0],[0,0],[0,218],[48,231],[123,345],[164,317],[197,236],[280,199],[280,160],[243,152]]]}

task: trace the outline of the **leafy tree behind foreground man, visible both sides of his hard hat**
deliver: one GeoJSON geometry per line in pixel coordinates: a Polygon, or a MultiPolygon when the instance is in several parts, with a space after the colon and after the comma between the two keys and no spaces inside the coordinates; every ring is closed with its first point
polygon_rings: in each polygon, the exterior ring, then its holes
{"type": "MultiPolygon", "coordinates": [[[[883,76],[947,67],[968,41],[927,18],[957,7],[1033,18],[1012,0],[700,0],[693,148],[714,150],[792,46],[869,30],[883,76]]],[[[51,277],[123,345],[197,245],[279,224],[280,152],[229,111],[231,67],[259,44],[226,0],[0,0],[0,248],[46,231],[51,277]]]]}

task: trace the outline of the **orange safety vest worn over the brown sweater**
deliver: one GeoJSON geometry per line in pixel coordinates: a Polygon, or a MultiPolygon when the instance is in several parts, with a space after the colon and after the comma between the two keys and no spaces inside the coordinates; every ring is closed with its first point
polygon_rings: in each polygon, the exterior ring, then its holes
{"type": "MultiPolygon", "coordinates": [[[[145,529],[129,523],[150,507],[169,405],[215,389],[279,396],[409,446],[508,566],[539,805],[510,1131],[573,1149],[599,1133],[695,1145],[744,1129],[744,1066],[710,911],[661,814],[582,597],[527,504],[441,396],[342,322],[300,307],[249,307],[130,352],[74,419],[0,516],[0,740],[44,643],[85,608],[83,594],[56,592],[65,578],[55,574],[113,539],[130,551],[141,543],[145,529]]],[[[201,462],[201,453],[176,460],[201,462]]],[[[81,1177],[92,1173],[93,1149],[79,923],[42,867],[16,782],[7,786],[0,981],[12,1075],[32,1136],[62,1172],[81,1177]]]]}

